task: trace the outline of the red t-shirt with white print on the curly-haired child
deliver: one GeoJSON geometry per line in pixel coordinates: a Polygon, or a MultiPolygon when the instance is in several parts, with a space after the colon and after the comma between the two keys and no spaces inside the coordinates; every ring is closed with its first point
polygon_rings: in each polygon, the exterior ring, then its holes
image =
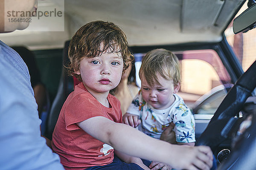
{"type": "Polygon", "coordinates": [[[108,102],[110,108],[100,104],[83,83],[76,85],[67,97],[52,134],[52,150],[58,153],[66,170],[83,170],[113,161],[113,147],[90,136],[76,124],[96,116],[121,123],[119,100],[109,94],[108,102]]]}

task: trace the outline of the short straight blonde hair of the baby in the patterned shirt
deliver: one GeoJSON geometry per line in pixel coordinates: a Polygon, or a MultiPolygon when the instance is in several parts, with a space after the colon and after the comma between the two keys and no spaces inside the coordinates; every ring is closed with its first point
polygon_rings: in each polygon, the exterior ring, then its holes
{"type": "Polygon", "coordinates": [[[144,74],[148,85],[159,83],[157,74],[164,79],[173,80],[174,85],[180,83],[180,62],[175,54],[160,48],[149,51],[142,59],[139,75],[144,74]]]}

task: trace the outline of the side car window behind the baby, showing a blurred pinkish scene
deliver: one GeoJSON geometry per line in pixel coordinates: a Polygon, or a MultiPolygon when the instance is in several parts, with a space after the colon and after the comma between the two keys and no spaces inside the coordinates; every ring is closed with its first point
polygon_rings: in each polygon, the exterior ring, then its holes
{"type": "MultiPolygon", "coordinates": [[[[225,87],[231,84],[230,76],[218,54],[210,49],[174,53],[181,64],[181,86],[178,95],[190,108],[197,108],[196,113],[213,114],[227,94],[225,87]],[[216,90],[221,93],[217,93],[216,90]]],[[[145,54],[134,56],[137,85],[140,86],[138,74],[141,59],[145,54]]]]}

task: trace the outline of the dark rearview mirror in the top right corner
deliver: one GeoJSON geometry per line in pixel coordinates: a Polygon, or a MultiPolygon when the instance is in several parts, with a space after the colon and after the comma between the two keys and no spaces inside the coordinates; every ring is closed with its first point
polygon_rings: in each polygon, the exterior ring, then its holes
{"type": "Polygon", "coordinates": [[[243,31],[247,32],[256,27],[256,3],[247,8],[243,13],[235,18],[233,31],[235,34],[243,31]]]}

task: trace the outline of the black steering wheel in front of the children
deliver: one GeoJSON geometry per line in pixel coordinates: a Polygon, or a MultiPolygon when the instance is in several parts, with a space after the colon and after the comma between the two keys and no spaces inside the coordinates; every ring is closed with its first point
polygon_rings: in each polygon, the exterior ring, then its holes
{"type": "MultiPolygon", "coordinates": [[[[239,111],[243,107],[246,99],[249,96],[251,96],[255,87],[256,87],[256,61],[253,62],[250,68],[248,68],[247,71],[241,75],[241,77],[239,77],[235,85],[233,85],[233,87],[227,93],[226,97],[221,102],[221,105],[218,107],[217,111],[214,113],[214,116],[209,122],[207,128],[204,130],[204,132],[201,134],[199,139],[196,141],[195,145],[207,145],[211,147],[212,151],[214,152],[219,146],[219,144],[221,144],[222,142],[224,142],[224,140],[228,138],[228,134],[230,133],[233,126],[236,124],[238,120],[237,118],[235,118],[235,116],[239,113],[239,111]]],[[[246,133],[248,131],[251,132],[249,136],[251,139],[250,140],[244,139],[244,141],[242,142],[243,143],[242,147],[240,147],[240,149],[238,150],[234,150],[230,159],[226,161],[224,165],[221,165],[219,168],[222,169],[223,167],[223,170],[227,170],[231,167],[234,167],[234,165],[236,164],[235,162],[238,162],[238,161],[240,162],[242,160],[240,159],[241,154],[243,155],[243,161],[244,161],[244,159],[247,158],[249,155],[248,152],[252,150],[252,148],[249,148],[249,147],[254,147],[254,150],[253,150],[254,156],[252,155],[250,156],[252,156],[251,159],[255,159],[256,133],[253,132],[253,129],[255,130],[256,128],[255,118],[256,116],[253,116],[252,125],[249,129],[246,130],[246,133]],[[243,149],[243,152],[241,152],[241,149],[243,149]],[[244,152],[245,150],[246,152],[244,152]],[[238,159],[238,155],[240,155],[239,159],[238,159]],[[236,159],[236,160],[233,160],[233,159],[236,159]]],[[[249,161],[249,159],[247,161],[249,161]]],[[[255,162],[255,160],[253,161],[255,162]]],[[[240,165],[244,164],[244,162],[240,163],[240,165]]],[[[241,169],[244,169],[244,168],[241,168],[241,169]]],[[[236,169],[236,170],[241,170],[241,169],[236,169]]],[[[246,170],[248,170],[247,167],[246,167],[246,170]]],[[[250,170],[256,170],[256,167],[250,170]]]]}

